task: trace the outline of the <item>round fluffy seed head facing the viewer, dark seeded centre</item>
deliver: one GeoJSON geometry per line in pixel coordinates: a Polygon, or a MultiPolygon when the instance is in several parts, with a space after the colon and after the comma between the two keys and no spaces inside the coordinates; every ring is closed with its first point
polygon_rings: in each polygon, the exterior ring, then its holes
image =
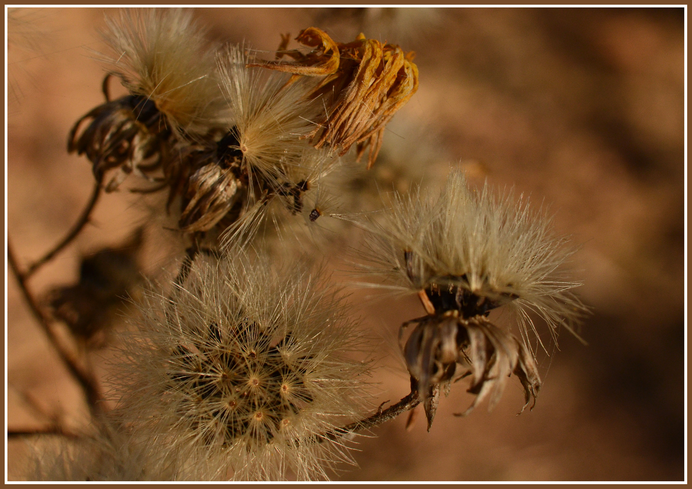
{"type": "Polygon", "coordinates": [[[178,479],[327,479],[353,463],[352,434],[327,434],[372,408],[363,336],[338,291],[289,272],[201,259],[183,286],[140,304],[118,413],[178,479]]]}

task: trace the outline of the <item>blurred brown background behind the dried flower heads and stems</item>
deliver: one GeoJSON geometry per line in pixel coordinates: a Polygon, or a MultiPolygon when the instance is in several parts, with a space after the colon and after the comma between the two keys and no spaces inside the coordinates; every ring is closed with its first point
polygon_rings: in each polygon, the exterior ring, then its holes
{"type": "MultiPolygon", "coordinates": [[[[39,257],[76,219],[91,192],[85,158],[66,134],[102,102],[89,48],[107,9],[21,10],[10,24],[8,232],[21,264],[39,257]],[[14,25],[14,30],[12,28],[14,25]]],[[[426,433],[405,416],[363,437],[343,480],[681,480],[684,393],[684,11],[682,8],[199,9],[220,41],[266,56],[307,26],[348,41],[361,31],[415,50],[420,88],[388,126],[370,173],[349,192],[374,205],[376,185],[439,185],[450,166],[475,183],[514,185],[545,202],[560,234],[581,243],[573,266],[594,315],[583,347],[564,333],[542,358],[536,409],[515,416],[518,382],[500,405],[455,418],[464,382],[441,400],[426,433]]],[[[295,46],[295,44],[291,44],[295,46]]],[[[141,199],[102,198],[92,225],[29,282],[42,296],[78,279],[84,254],[127,239],[141,223],[142,263],[172,260],[174,238],[151,225],[141,199]]],[[[336,261],[338,250],[325,250],[336,261]]],[[[357,294],[354,299],[358,300],[357,294]]],[[[365,322],[394,335],[422,313],[410,301],[363,302],[365,322]]],[[[91,361],[106,371],[107,350],[91,361]]],[[[379,373],[397,400],[408,380],[394,361],[379,373]]],[[[75,430],[80,391],[8,280],[8,424],[75,430]],[[40,413],[39,413],[40,412],[40,413]]],[[[421,416],[422,417],[422,416],[421,416]]],[[[26,477],[31,436],[12,436],[9,477],[26,477]]],[[[346,468],[345,468],[346,469],[346,468]]]]}

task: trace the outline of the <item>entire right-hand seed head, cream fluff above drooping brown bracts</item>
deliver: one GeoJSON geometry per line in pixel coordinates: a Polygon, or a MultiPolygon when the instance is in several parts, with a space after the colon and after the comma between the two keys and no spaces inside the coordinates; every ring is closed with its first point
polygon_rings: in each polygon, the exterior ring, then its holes
{"type": "Polygon", "coordinates": [[[487,185],[469,190],[464,174],[454,172],[439,196],[395,194],[385,222],[365,227],[370,238],[363,256],[372,262],[365,272],[417,293],[428,313],[400,332],[415,325],[403,351],[426,401],[428,427],[440,387],[448,392],[460,378],[459,365],[467,367],[461,374],[471,374],[469,391],[477,394],[464,414],[488,395],[492,409],[512,373],[528,405],[541,383],[527,347],[529,330],[542,344],[530,314],[542,317],[555,338],[560,325],[574,333],[586,312],[570,290],[579,282],[559,270],[573,250],[565,248],[566,239],[552,237],[545,212],[514,203],[511,194],[493,196],[487,185]],[[513,311],[522,341],[488,319],[501,306],[513,311]]]}

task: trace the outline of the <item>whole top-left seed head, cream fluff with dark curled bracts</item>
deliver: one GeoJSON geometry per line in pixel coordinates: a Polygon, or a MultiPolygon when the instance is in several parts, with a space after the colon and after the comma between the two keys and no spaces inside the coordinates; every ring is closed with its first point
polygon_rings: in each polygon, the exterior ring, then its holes
{"type": "MultiPolygon", "coordinates": [[[[128,174],[149,176],[163,167],[179,139],[200,138],[215,123],[221,102],[213,51],[190,12],[180,9],[121,10],[107,18],[104,39],[112,56],[103,91],[106,102],[86,113],[69,134],[68,151],[86,154],[101,181],[115,190],[128,174]],[[110,100],[108,80],[120,79],[129,95],[110,100]],[[88,121],[84,129],[84,122],[88,121]]],[[[165,186],[161,185],[161,188],[165,186]]]]}

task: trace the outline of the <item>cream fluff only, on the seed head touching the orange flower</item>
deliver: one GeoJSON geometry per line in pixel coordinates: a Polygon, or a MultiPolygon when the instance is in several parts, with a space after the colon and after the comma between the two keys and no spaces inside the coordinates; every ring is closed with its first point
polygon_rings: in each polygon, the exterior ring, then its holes
{"type": "Polygon", "coordinates": [[[253,58],[245,51],[228,46],[217,57],[230,109],[228,125],[237,135],[251,181],[261,180],[277,190],[325,168],[325,157],[305,140],[320,107],[307,98],[313,80],[287,83],[285,73],[248,68],[253,58]]]}

